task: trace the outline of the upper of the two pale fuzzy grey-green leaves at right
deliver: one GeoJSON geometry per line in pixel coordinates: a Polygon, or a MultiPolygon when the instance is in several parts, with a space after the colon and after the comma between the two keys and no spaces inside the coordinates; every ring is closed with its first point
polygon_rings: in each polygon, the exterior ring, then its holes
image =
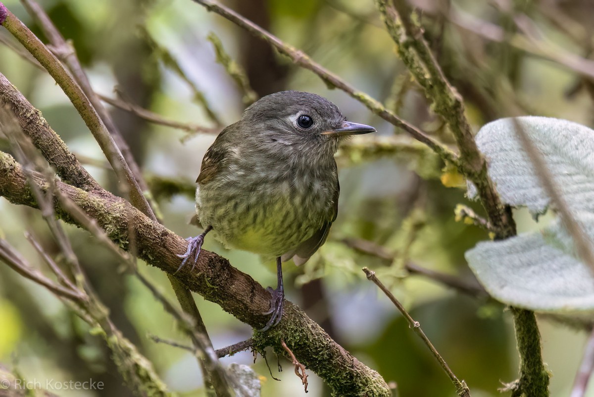
{"type": "MultiPolygon", "coordinates": [[[[544,156],[570,209],[594,212],[594,131],[567,120],[535,116],[516,119],[544,156]]],[[[533,215],[542,214],[549,197],[514,130],[511,118],[490,122],[477,134],[476,144],[501,200],[514,207],[526,206],[533,215]]],[[[468,196],[476,197],[472,184],[468,185],[468,196]]]]}

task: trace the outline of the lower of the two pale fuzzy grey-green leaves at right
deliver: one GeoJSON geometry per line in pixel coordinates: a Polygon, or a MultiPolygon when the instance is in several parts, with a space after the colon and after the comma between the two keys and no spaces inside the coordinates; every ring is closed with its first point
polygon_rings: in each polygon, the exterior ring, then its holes
{"type": "MultiPolygon", "coordinates": [[[[594,215],[576,215],[594,241],[594,215]]],[[[503,303],[547,313],[594,313],[594,276],[577,259],[573,241],[560,223],[503,241],[479,242],[466,251],[470,269],[503,303]]]]}

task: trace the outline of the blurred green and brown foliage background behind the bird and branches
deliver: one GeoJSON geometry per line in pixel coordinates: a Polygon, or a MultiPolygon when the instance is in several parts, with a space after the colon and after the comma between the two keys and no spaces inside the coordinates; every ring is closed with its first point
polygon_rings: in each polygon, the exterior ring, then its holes
{"type": "MultiPolygon", "coordinates": [[[[469,205],[479,214],[481,208],[467,201],[464,182],[443,171],[443,163],[428,150],[345,93],[328,89],[320,78],[296,67],[266,43],[190,0],[40,3],[72,41],[98,93],[119,96],[164,118],[216,129],[241,116],[244,92],[216,62],[207,40],[214,32],[244,68],[258,96],[284,89],[315,92],[339,105],[350,120],[374,125],[377,137],[350,141],[338,153],[342,187],[338,219],[326,245],[304,267],[286,264],[287,297],[359,360],[395,382],[400,396],[455,396],[447,376],[402,316],[365,279],[361,268],[368,266],[421,323],[473,396],[496,396],[501,382],[515,379],[513,327],[503,305],[407,271],[413,264],[476,285],[463,254],[488,238],[481,229],[454,220],[456,204],[469,205]],[[163,49],[176,59],[182,73],[172,67],[163,49]],[[383,247],[391,259],[353,249],[353,241],[359,239],[383,247]]],[[[4,4],[45,40],[18,1],[4,4]]],[[[371,0],[226,4],[438,140],[453,143],[397,58],[371,0]]],[[[414,4],[422,9],[426,37],[445,74],[465,98],[475,130],[511,112],[565,118],[592,127],[592,81],[563,65],[570,56],[587,58],[592,51],[594,8],[589,1],[415,0],[414,4]]],[[[0,72],[43,112],[91,174],[118,192],[99,146],[64,93],[48,74],[14,51],[19,46],[7,31],[0,29],[0,39],[0,72]]],[[[179,235],[198,234],[199,229],[188,223],[194,213],[192,191],[214,134],[190,134],[110,109],[153,188],[165,225],[179,235]]],[[[5,141],[0,146],[8,150],[5,141]]],[[[523,210],[515,216],[519,231],[539,227],[523,210]]],[[[118,261],[87,232],[67,230],[113,322],[150,358],[170,390],[182,396],[203,395],[195,358],[147,336],[182,338],[173,319],[137,279],[121,274],[118,261]]],[[[58,252],[38,211],[0,199],[0,233],[43,269],[23,237],[25,231],[33,233],[50,253],[58,252]]],[[[227,257],[264,286],[276,283],[273,266],[261,263],[257,256],[227,251],[208,238],[205,248],[227,257]]],[[[141,272],[174,298],[164,273],[144,264],[141,272]]],[[[215,348],[251,335],[247,325],[219,306],[199,296],[195,300],[215,348]]],[[[544,358],[554,375],[551,394],[568,395],[586,334],[548,320],[540,320],[539,325],[544,358]]],[[[223,359],[223,363],[232,362],[252,364],[253,357],[243,352],[223,359]]],[[[0,266],[0,363],[26,379],[92,378],[106,385],[100,392],[55,390],[63,396],[130,393],[102,339],[92,336],[89,326],[53,295],[7,266],[0,266]]],[[[272,352],[268,363],[281,382],[273,379],[258,357],[254,369],[263,380],[263,396],[303,395],[288,361],[280,360],[282,373],[277,372],[272,352]]],[[[309,396],[329,395],[320,379],[309,375],[309,396]]],[[[589,395],[594,396],[591,391],[589,395]]]]}

